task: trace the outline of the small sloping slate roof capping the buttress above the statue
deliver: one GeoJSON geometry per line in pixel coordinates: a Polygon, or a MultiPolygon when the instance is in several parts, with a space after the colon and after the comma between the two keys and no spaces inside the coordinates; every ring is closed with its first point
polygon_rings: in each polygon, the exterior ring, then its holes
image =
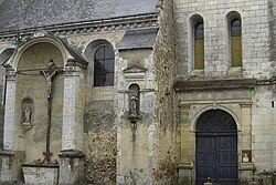
{"type": "Polygon", "coordinates": [[[158,28],[128,30],[119,43],[119,50],[152,49],[158,28]]]}

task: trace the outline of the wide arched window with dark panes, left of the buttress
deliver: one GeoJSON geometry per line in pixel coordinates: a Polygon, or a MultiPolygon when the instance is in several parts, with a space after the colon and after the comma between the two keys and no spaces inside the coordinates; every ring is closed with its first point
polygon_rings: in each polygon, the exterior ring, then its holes
{"type": "Polygon", "coordinates": [[[94,55],[94,86],[110,85],[114,85],[114,50],[100,45],[94,55]]]}

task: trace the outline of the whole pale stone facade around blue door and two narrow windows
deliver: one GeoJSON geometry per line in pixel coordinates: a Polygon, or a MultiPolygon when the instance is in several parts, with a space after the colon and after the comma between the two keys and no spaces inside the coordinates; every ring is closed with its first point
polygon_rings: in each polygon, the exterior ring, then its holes
{"type": "Polygon", "coordinates": [[[181,160],[180,182],[192,184],[197,175],[194,134],[197,120],[208,110],[224,110],[237,124],[240,184],[254,172],[274,171],[274,2],[269,1],[174,1],[178,34],[178,88],[180,100],[181,160]],[[242,19],[242,60],[231,68],[229,13],[242,19]],[[192,64],[191,18],[200,14],[204,21],[204,70],[198,73],[192,64]],[[229,80],[255,79],[241,89],[229,80]],[[214,83],[220,81],[220,88],[214,83]],[[205,83],[210,82],[210,84],[205,83]],[[200,83],[200,85],[197,85],[200,83]],[[203,84],[204,88],[202,86],[203,84]],[[225,85],[223,85],[225,84],[225,85]],[[187,85],[187,86],[184,86],[187,85]],[[232,86],[232,88],[231,88],[232,86]],[[252,162],[244,163],[243,151],[252,151],[252,162]],[[182,176],[182,177],[181,177],[182,176]]]}

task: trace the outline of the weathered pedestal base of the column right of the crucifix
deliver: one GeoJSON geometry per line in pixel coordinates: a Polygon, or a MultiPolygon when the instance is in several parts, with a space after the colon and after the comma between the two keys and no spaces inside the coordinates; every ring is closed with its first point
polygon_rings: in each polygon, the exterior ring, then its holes
{"type": "Polygon", "coordinates": [[[84,184],[85,154],[77,150],[64,150],[60,153],[60,185],[84,184]]]}

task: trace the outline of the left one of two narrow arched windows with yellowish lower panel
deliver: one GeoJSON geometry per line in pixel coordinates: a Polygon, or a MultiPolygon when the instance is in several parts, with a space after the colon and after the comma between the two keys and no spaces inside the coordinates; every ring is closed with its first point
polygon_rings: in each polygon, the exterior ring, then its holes
{"type": "Polygon", "coordinates": [[[194,69],[204,69],[204,24],[199,20],[194,24],[194,69]]]}

